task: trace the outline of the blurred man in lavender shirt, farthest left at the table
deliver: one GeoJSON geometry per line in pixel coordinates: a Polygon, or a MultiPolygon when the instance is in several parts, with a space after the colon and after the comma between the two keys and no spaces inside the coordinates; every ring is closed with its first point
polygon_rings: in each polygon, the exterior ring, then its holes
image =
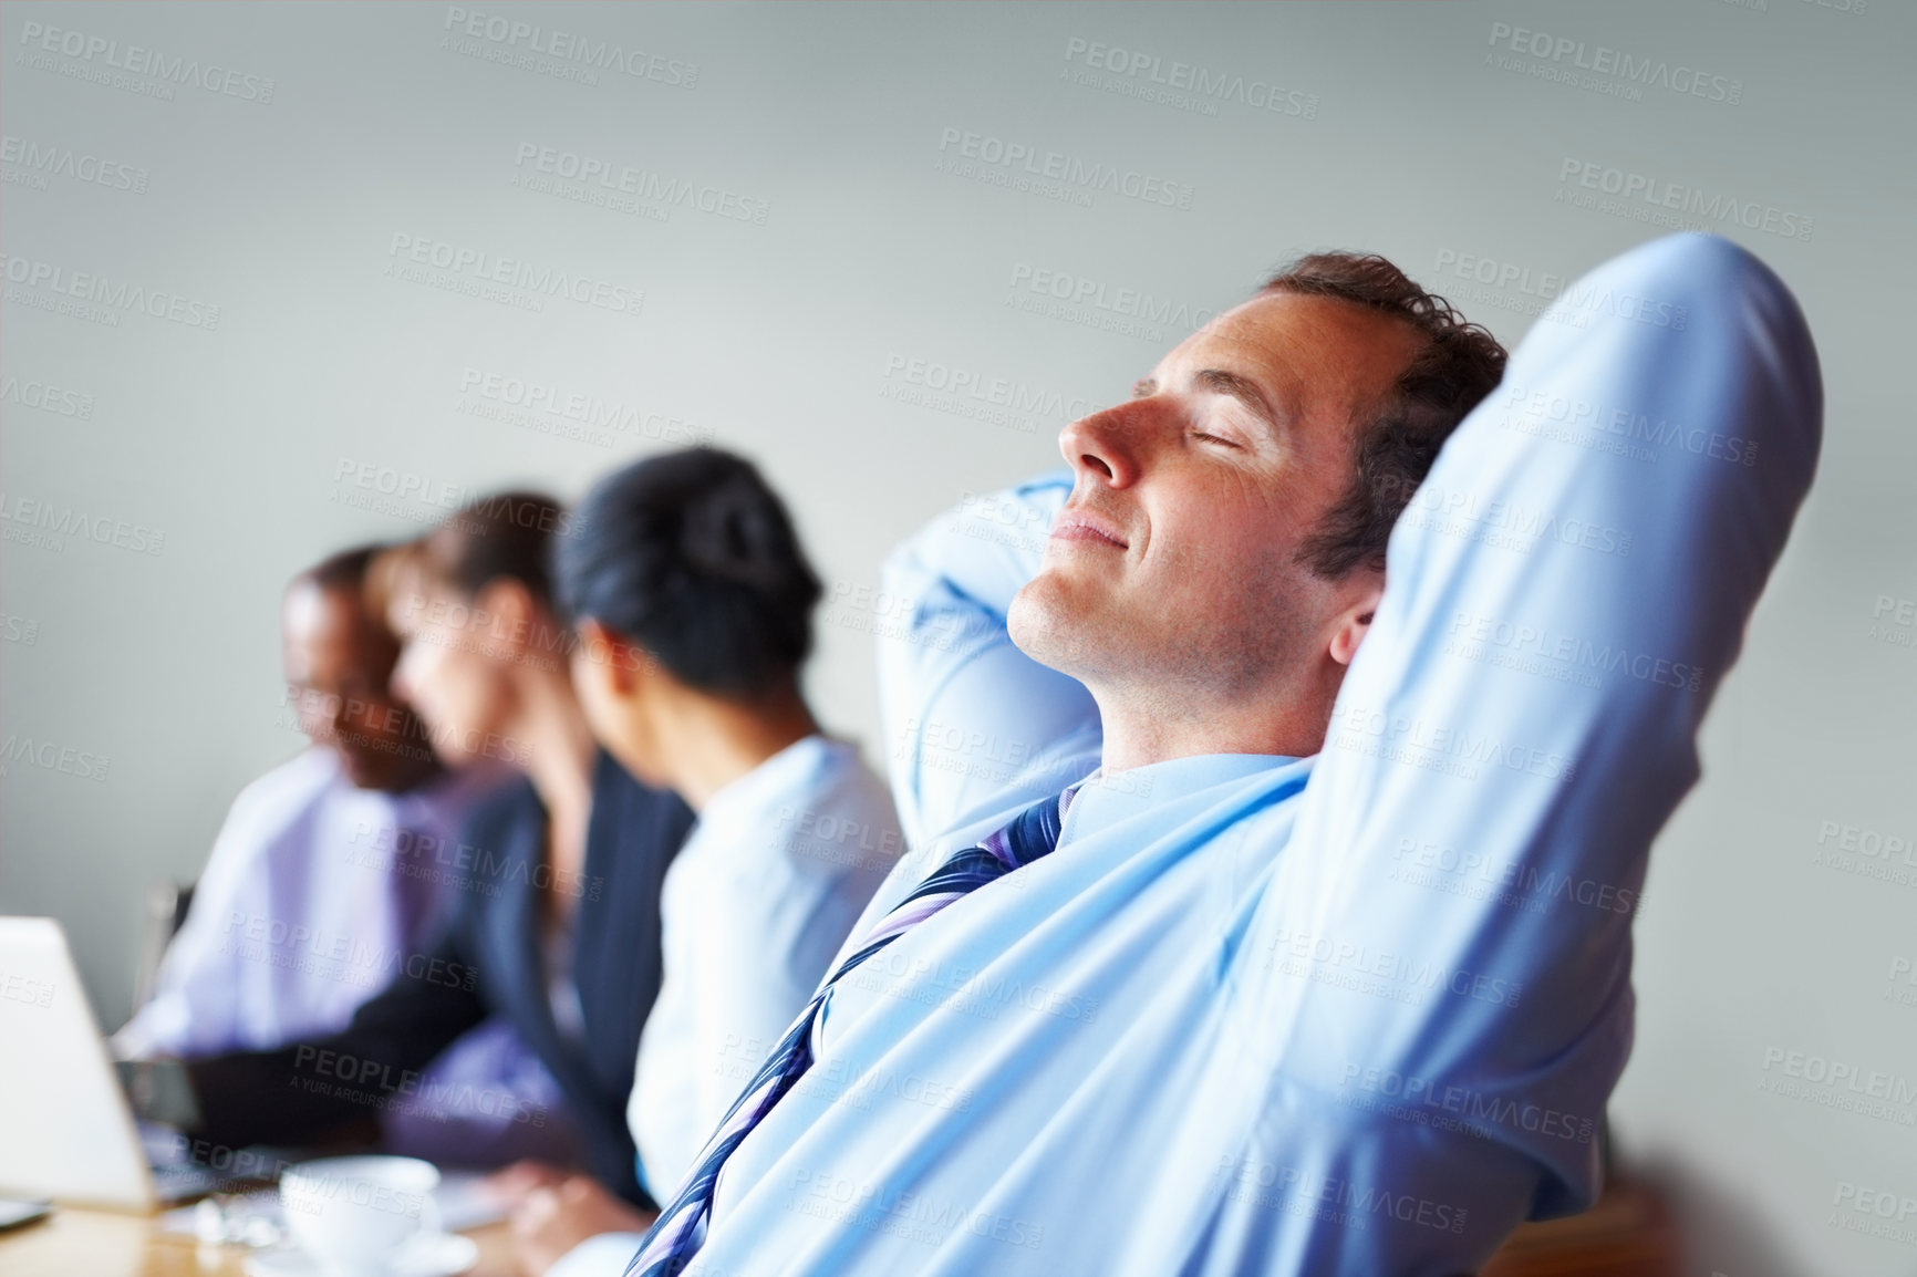
{"type": "MultiPolygon", "coordinates": [[[[458,894],[441,849],[504,769],[447,769],[389,686],[399,640],[368,596],[391,550],[330,556],[288,585],[288,704],[312,746],[234,800],[167,947],[153,997],[115,1035],[121,1056],[201,1058],[332,1033],[416,957],[458,894]]],[[[435,1072],[443,1095],[550,1091],[506,1026],[481,1026],[435,1072]]],[[[543,1149],[500,1147],[512,1122],[470,1106],[395,1114],[387,1143],[491,1164],[543,1149]],[[497,1127],[497,1129],[495,1129],[497,1127]]],[[[523,1124],[520,1124],[523,1126],[523,1124]]]]}

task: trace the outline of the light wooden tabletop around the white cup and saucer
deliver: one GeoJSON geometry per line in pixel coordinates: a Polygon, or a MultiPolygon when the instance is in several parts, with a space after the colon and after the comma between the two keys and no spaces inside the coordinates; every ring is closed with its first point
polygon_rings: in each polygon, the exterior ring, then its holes
{"type": "MultiPolygon", "coordinates": [[[[470,1277],[520,1277],[504,1223],[468,1233],[479,1242],[470,1277]]],[[[201,1246],[161,1233],[155,1216],[61,1206],[52,1219],[0,1233],[6,1277],[245,1277],[243,1246],[201,1246]]]]}

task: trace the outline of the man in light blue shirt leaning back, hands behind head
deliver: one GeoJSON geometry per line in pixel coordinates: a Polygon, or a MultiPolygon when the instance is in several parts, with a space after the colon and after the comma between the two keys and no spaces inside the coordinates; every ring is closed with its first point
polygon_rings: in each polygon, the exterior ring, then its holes
{"type": "Polygon", "coordinates": [[[1595,1200],[1629,913],[1403,869],[1641,888],[1821,430],[1743,249],[1568,290],[1606,293],[1691,322],[1547,316],[1507,370],[1382,257],[1300,259],[1068,426],[1068,474],[893,552],[912,851],[629,1273],[1451,1277],[1595,1200]],[[1762,466],[1566,443],[1557,401],[1762,466]],[[1710,677],[1537,677],[1478,617],[1710,677]]]}

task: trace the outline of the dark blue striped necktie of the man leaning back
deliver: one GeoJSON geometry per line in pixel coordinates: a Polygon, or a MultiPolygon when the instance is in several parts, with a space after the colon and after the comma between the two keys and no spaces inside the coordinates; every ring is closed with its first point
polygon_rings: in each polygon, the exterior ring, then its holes
{"type": "Polygon", "coordinates": [[[725,1160],[732,1156],[732,1150],[751,1133],[751,1127],[759,1126],[765,1114],[773,1110],[773,1104],[811,1068],[813,1026],[819,1022],[819,1012],[832,995],[832,986],[955,899],[976,892],[995,878],[1003,878],[1020,865],[1029,865],[1047,855],[1058,846],[1058,830],[1064,824],[1066,811],[1072,807],[1074,794],[1077,794],[1075,784],[1056,798],[1047,798],[1026,807],[1012,817],[1010,824],[976,847],[966,847],[939,865],[937,872],[920,882],[911,895],[878,920],[878,926],[865,938],[865,943],[840,963],[832,978],[819,987],[813,1001],[805,1005],[799,1018],[786,1030],[773,1055],[759,1066],[751,1081],[746,1083],[746,1093],[732,1103],[719,1129],[705,1141],[700,1160],[692,1166],[684,1183],[679,1185],[673,1204],[659,1212],[652,1231],[646,1233],[646,1241],[640,1242],[638,1254],[627,1265],[625,1277],[671,1277],[698,1254],[700,1244],[705,1241],[704,1225],[711,1214],[719,1172],[725,1168],[725,1160]]]}

